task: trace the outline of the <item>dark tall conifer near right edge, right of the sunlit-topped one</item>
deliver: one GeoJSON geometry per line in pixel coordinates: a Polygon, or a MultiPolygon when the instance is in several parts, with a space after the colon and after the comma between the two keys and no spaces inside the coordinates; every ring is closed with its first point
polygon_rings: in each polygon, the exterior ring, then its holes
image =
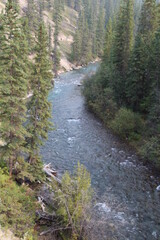
{"type": "Polygon", "coordinates": [[[129,77],[126,83],[127,102],[135,111],[146,113],[149,107],[151,80],[149,55],[155,34],[155,0],[145,0],[142,6],[138,33],[130,61],[129,77]]]}

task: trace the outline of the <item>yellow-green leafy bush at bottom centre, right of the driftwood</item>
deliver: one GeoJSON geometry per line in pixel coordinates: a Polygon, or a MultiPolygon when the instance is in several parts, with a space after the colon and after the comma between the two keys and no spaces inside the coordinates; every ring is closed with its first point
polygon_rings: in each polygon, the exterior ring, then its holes
{"type": "Polygon", "coordinates": [[[64,228],[72,240],[86,239],[84,229],[89,220],[92,199],[90,174],[78,163],[73,176],[68,172],[62,177],[61,186],[53,185],[57,215],[62,219],[64,228]]]}

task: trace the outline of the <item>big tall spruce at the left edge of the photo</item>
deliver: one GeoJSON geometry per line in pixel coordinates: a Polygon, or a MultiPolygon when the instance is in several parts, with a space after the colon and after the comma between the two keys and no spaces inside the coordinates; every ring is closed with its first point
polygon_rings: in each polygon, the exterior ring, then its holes
{"type": "Polygon", "coordinates": [[[27,50],[25,37],[17,9],[8,0],[0,28],[0,112],[1,132],[5,141],[3,158],[8,164],[10,176],[16,162],[21,164],[25,136],[23,126],[26,106],[23,98],[27,94],[27,50]]]}

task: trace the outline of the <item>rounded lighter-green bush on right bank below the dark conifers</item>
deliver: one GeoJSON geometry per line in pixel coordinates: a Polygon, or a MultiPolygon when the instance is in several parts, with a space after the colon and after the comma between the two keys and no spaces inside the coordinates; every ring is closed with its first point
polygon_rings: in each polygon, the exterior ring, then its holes
{"type": "Polygon", "coordinates": [[[126,108],[119,109],[110,126],[120,137],[129,140],[139,140],[144,129],[140,115],[126,108]]]}

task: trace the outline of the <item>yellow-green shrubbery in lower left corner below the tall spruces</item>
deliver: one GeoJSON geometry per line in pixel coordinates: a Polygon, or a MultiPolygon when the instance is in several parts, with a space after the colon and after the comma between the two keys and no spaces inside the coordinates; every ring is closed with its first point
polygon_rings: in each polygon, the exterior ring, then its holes
{"type": "Polygon", "coordinates": [[[34,228],[36,200],[31,189],[18,186],[0,169],[0,224],[17,236],[34,228]]]}

